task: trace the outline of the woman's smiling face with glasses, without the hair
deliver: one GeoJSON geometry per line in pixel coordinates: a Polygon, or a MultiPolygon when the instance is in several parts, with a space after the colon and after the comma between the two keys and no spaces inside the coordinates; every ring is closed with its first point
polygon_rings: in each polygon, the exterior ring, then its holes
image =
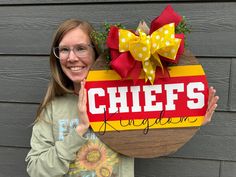
{"type": "Polygon", "coordinates": [[[74,84],[80,83],[95,61],[89,36],[79,27],[74,28],[65,34],[59,48],[63,72],[74,84]]]}

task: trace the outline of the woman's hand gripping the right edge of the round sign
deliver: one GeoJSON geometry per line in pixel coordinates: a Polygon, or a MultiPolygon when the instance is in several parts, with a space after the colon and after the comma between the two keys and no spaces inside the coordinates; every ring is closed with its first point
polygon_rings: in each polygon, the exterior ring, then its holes
{"type": "Polygon", "coordinates": [[[217,101],[219,100],[218,96],[215,96],[216,90],[213,87],[209,88],[209,99],[208,99],[208,108],[205,114],[202,125],[206,125],[211,121],[212,115],[217,107],[217,101]]]}

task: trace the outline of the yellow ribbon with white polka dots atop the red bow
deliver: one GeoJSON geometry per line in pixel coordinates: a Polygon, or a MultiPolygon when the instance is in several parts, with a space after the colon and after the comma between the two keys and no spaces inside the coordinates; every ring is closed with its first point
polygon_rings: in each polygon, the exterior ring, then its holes
{"type": "Polygon", "coordinates": [[[153,84],[156,66],[163,69],[159,55],[175,60],[181,39],[175,38],[175,25],[164,25],[151,35],[139,30],[139,36],[124,29],[119,29],[119,51],[129,51],[135,60],[141,61],[145,72],[145,80],[153,84]]]}

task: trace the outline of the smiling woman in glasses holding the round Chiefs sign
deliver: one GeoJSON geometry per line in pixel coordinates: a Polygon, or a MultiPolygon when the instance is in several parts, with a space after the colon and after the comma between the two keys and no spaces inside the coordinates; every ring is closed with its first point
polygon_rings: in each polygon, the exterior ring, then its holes
{"type": "MultiPolygon", "coordinates": [[[[26,157],[32,177],[133,177],[134,159],[103,144],[89,129],[85,78],[98,57],[90,24],[62,23],[50,53],[52,78],[41,103],[26,157]]],[[[218,97],[210,89],[210,121],[218,97]]]]}

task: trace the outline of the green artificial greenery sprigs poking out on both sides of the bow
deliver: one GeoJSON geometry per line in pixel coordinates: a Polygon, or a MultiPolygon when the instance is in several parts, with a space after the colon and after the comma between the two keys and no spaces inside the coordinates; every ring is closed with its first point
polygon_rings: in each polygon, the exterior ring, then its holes
{"type": "MultiPolygon", "coordinates": [[[[106,40],[107,40],[107,36],[108,36],[108,33],[109,33],[109,30],[110,30],[111,26],[117,26],[118,28],[125,29],[125,26],[120,24],[120,23],[117,23],[117,24],[104,23],[101,30],[93,31],[92,34],[91,34],[92,35],[91,37],[95,39],[101,53],[105,54],[107,64],[109,64],[110,61],[111,61],[111,58],[110,58],[110,55],[109,55],[109,49],[106,46],[106,40]]],[[[185,36],[185,40],[184,40],[185,47],[187,46],[186,35],[190,32],[191,32],[191,29],[190,29],[190,26],[187,23],[187,19],[186,19],[185,16],[183,16],[182,21],[175,28],[175,33],[176,34],[180,34],[180,33],[184,34],[184,36],[185,36]]]]}

